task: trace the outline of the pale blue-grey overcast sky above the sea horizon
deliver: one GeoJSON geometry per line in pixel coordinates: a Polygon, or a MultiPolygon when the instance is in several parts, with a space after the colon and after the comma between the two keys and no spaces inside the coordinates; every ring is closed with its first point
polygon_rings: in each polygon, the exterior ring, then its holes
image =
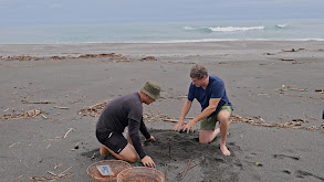
{"type": "Polygon", "coordinates": [[[0,0],[0,26],[324,19],[324,0],[0,0]]]}

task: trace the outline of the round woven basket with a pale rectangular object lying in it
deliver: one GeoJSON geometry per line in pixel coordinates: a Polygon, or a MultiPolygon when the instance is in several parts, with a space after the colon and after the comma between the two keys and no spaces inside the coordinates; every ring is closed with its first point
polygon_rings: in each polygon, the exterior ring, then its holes
{"type": "Polygon", "coordinates": [[[103,161],[98,161],[95,162],[93,164],[91,164],[87,169],[86,169],[86,173],[94,180],[96,181],[116,181],[116,176],[117,174],[125,170],[132,168],[132,165],[125,161],[122,160],[103,160],[103,161]],[[97,165],[106,165],[108,164],[112,169],[112,171],[114,172],[114,175],[107,175],[107,176],[103,176],[98,169],[96,168],[97,165]]]}

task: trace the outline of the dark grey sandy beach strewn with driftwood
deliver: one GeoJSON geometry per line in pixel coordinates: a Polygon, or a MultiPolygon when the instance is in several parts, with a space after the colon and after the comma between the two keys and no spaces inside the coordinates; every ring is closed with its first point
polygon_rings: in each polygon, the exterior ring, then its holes
{"type": "MultiPolygon", "coordinates": [[[[58,181],[94,181],[87,167],[113,158],[98,154],[100,109],[90,108],[146,81],[163,90],[144,105],[157,139],[144,150],[168,181],[324,181],[323,71],[322,41],[0,44],[0,181],[66,169],[71,176],[58,181]],[[234,109],[230,157],[221,154],[220,137],[197,141],[199,125],[194,133],[171,131],[196,63],[224,81],[234,109]],[[189,159],[201,163],[181,180],[189,159]]],[[[196,100],[188,117],[199,113],[196,100]]]]}

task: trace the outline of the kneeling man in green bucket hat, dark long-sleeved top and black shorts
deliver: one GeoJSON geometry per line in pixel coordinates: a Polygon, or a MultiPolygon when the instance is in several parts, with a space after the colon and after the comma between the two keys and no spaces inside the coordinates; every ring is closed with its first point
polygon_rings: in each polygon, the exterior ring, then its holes
{"type": "Polygon", "coordinates": [[[111,152],[115,158],[127,162],[142,160],[145,167],[155,168],[153,159],[142,147],[138,131],[146,140],[155,140],[143,121],[143,106],[160,98],[160,86],[155,82],[146,82],[137,93],[127,94],[109,101],[96,124],[96,138],[101,142],[101,154],[111,152]],[[123,136],[128,127],[128,138],[123,136]]]}

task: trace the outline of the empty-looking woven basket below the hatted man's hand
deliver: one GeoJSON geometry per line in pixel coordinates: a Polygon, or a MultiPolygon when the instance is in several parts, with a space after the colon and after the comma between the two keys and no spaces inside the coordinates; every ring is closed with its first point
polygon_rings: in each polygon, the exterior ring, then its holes
{"type": "Polygon", "coordinates": [[[128,168],[117,175],[117,182],[165,182],[165,175],[153,168],[128,168]]]}

